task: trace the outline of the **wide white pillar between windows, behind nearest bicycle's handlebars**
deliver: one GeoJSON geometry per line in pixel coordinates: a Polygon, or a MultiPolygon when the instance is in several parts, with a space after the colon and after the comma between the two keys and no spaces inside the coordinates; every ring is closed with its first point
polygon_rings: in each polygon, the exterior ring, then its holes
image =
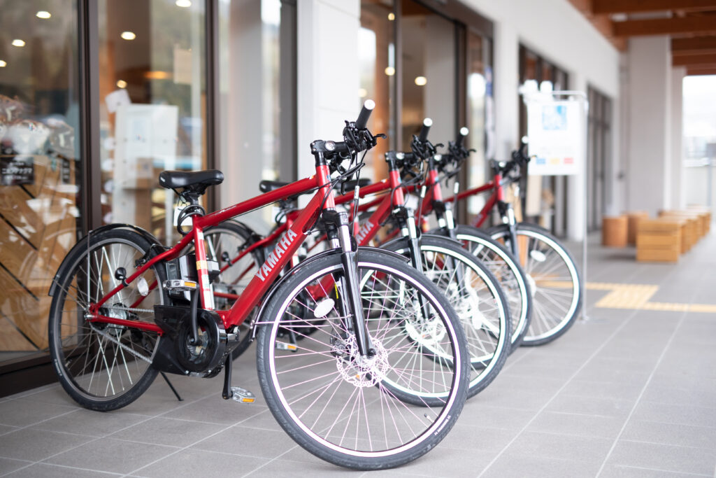
{"type": "Polygon", "coordinates": [[[301,0],[297,9],[298,176],[315,173],[310,144],[341,140],[344,120],[360,111],[359,0],[301,0]]]}

